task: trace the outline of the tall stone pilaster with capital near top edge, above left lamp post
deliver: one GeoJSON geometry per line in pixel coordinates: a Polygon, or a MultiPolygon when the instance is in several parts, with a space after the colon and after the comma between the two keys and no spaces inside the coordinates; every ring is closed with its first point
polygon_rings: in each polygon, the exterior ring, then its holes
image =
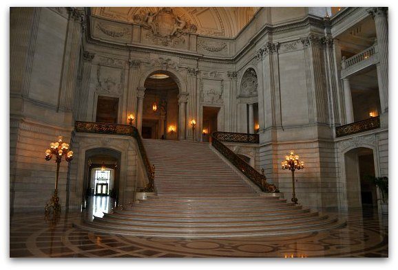
{"type": "Polygon", "coordinates": [[[66,41],[63,56],[63,67],[61,85],[59,91],[59,102],[57,111],[63,108],[72,110],[74,89],[78,69],[78,54],[81,45],[81,21],[84,16],[83,10],[68,8],[69,20],[67,21],[66,41]]]}

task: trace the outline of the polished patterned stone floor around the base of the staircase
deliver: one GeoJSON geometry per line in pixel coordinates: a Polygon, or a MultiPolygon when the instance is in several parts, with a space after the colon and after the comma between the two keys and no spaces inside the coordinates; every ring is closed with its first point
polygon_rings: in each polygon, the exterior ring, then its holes
{"type": "Polygon", "coordinates": [[[388,257],[388,216],[373,209],[340,215],[346,227],[329,232],[228,239],[166,239],[83,232],[72,223],[109,212],[114,202],[92,197],[83,212],[10,218],[10,257],[388,257]]]}

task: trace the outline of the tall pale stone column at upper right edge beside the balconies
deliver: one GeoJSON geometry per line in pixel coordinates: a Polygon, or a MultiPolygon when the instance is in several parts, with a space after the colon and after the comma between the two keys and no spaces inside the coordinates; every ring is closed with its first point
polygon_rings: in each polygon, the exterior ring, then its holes
{"type": "Polygon", "coordinates": [[[369,8],[368,12],[375,19],[377,36],[377,80],[379,82],[379,95],[381,113],[388,111],[388,8],[369,8]]]}

